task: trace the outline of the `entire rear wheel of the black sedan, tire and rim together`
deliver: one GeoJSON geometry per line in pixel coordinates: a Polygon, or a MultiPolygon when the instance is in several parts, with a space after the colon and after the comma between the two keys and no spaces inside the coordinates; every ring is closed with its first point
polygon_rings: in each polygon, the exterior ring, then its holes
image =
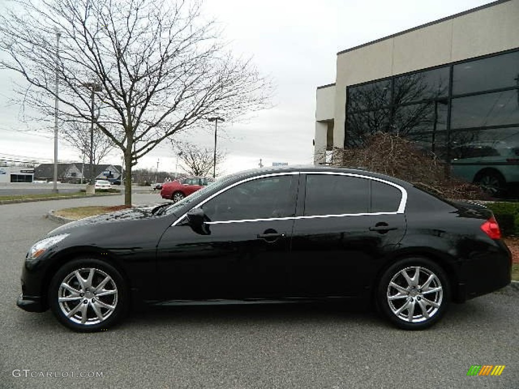
{"type": "Polygon", "coordinates": [[[405,258],[384,272],[376,299],[380,313],[395,326],[421,330],[444,315],[450,302],[450,285],[445,271],[435,262],[422,257],[405,258]],[[427,289],[422,289],[426,284],[427,289]]]}

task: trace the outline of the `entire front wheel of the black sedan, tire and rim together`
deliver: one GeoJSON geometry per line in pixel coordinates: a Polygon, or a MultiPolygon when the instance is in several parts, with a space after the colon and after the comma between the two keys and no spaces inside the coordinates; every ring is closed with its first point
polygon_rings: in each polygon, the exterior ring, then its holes
{"type": "Polygon", "coordinates": [[[127,286],[121,274],[108,263],[87,257],[65,263],[54,274],[48,301],[58,321],[77,332],[112,327],[129,307],[127,286]],[[85,305],[87,308],[82,308],[85,305]]]}

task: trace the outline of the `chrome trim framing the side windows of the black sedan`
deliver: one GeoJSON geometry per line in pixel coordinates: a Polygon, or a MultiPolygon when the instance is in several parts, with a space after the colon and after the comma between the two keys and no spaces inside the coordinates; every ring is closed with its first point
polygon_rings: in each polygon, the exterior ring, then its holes
{"type": "MultiPolygon", "coordinates": [[[[345,216],[375,216],[375,215],[398,215],[403,214],[405,212],[405,205],[407,203],[407,190],[405,190],[402,186],[392,183],[388,180],[377,178],[377,177],[371,177],[366,176],[363,174],[357,174],[357,173],[342,173],[342,172],[319,172],[319,171],[304,171],[304,172],[283,172],[283,173],[270,173],[270,174],[263,174],[260,176],[254,176],[242,179],[241,181],[238,181],[232,185],[229,185],[216,193],[214,193],[212,196],[208,197],[206,200],[199,203],[194,208],[199,208],[209,200],[213,199],[214,197],[220,195],[220,193],[225,192],[226,190],[233,188],[237,185],[240,185],[242,183],[252,181],[254,179],[258,178],[265,178],[265,177],[276,177],[276,176],[285,176],[285,175],[296,175],[296,174],[322,174],[322,175],[339,175],[339,176],[350,176],[350,177],[357,177],[357,178],[365,178],[365,179],[372,179],[374,181],[378,181],[387,185],[391,185],[397,189],[400,190],[402,194],[402,198],[400,199],[400,204],[398,207],[398,210],[396,212],[365,212],[365,213],[346,213],[346,214],[332,214],[332,215],[311,215],[311,216],[288,216],[288,217],[272,217],[272,218],[261,218],[261,219],[241,219],[241,220],[223,220],[223,221],[207,221],[206,224],[213,225],[213,224],[233,224],[233,223],[249,223],[251,221],[270,221],[270,220],[299,220],[299,219],[318,219],[318,218],[329,218],[329,217],[345,217],[345,216]]],[[[176,226],[179,224],[184,218],[186,217],[187,212],[184,213],[181,217],[179,217],[172,225],[176,226]]]]}

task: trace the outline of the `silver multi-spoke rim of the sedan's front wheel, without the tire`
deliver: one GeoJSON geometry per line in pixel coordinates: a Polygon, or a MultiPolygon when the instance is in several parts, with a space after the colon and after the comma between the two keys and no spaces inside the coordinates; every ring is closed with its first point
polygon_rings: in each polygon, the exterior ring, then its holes
{"type": "Polygon", "coordinates": [[[70,321],[93,325],[105,321],[117,307],[117,286],[112,277],[95,268],[74,270],[61,282],[58,303],[70,321]]]}

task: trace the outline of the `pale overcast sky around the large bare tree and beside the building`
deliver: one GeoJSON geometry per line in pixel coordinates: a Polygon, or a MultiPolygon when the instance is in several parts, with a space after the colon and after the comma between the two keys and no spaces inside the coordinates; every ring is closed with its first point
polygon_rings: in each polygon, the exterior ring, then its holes
{"type": "MultiPolygon", "coordinates": [[[[204,13],[221,24],[235,55],[252,57],[277,86],[274,108],[245,123],[219,123],[217,147],[228,155],[223,170],[252,169],[260,158],[264,165],[312,163],[316,88],[335,82],[338,51],[488,3],[491,1],[206,0],[204,13]]],[[[12,79],[13,74],[0,70],[0,158],[51,162],[52,133],[19,131],[29,127],[22,120],[22,107],[10,103],[12,79]]],[[[186,136],[207,147],[214,142],[211,132],[186,136]]],[[[169,145],[161,145],[138,168],[155,169],[159,160],[159,170],[173,171],[173,156],[169,145]]],[[[78,152],[60,142],[59,159],[78,161],[78,152]]],[[[120,164],[120,152],[104,162],[120,164]]]]}

